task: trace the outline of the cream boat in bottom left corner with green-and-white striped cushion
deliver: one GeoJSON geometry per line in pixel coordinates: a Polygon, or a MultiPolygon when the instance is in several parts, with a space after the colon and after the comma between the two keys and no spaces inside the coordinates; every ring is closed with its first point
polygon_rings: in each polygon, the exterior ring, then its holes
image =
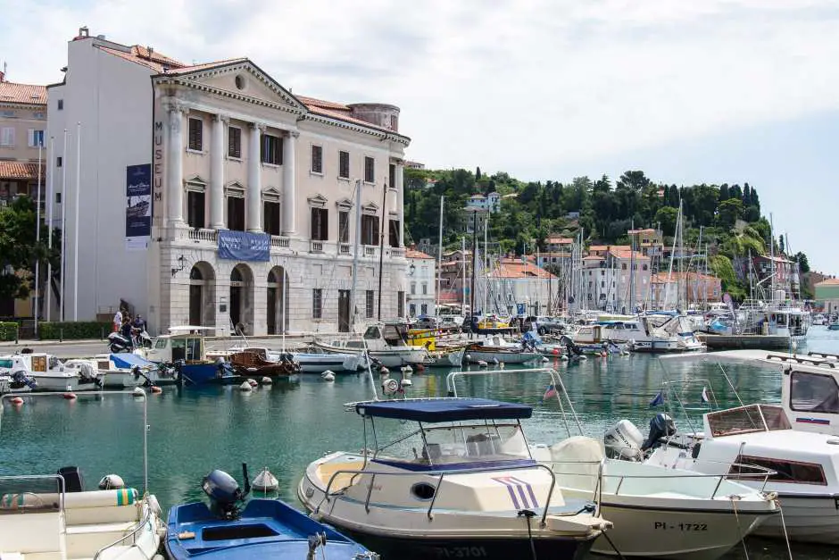
{"type": "MultiPolygon", "coordinates": [[[[33,393],[24,398],[50,397],[33,393]]],[[[146,451],[144,439],[144,456],[146,451]]],[[[98,489],[87,489],[75,466],[56,474],[0,477],[0,517],[4,558],[147,560],[160,547],[163,531],[160,506],[145,483],[137,490],[107,474],[98,489]]]]}

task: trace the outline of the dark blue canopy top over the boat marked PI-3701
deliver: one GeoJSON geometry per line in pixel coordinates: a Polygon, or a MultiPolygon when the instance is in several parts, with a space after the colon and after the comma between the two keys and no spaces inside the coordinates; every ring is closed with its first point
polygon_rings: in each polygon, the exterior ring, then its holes
{"type": "Polygon", "coordinates": [[[358,403],[355,412],[413,422],[457,422],[530,418],[533,407],[488,398],[428,398],[358,403]]]}

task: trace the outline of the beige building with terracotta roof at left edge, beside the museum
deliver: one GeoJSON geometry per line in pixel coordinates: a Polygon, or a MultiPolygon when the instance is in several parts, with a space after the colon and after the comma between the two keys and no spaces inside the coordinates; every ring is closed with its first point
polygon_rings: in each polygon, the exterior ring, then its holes
{"type": "MultiPolygon", "coordinates": [[[[0,206],[29,196],[41,201],[42,211],[46,208],[45,130],[46,88],[8,81],[0,71],[0,206]]],[[[0,298],[0,317],[32,317],[33,302],[34,293],[26,299],[0,298]]]]}

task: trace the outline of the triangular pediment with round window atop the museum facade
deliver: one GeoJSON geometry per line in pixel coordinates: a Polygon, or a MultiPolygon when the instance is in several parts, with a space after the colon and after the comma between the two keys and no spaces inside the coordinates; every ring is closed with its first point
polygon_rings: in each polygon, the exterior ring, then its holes
{"type": "Polygon", "coordinates": [[[253,103],[280,105],[293,112],[307,111],[306,106],[289,90],[246,58],[187,66],[159,77],[192,82],[209,93],[240,97],[253,103]]]}

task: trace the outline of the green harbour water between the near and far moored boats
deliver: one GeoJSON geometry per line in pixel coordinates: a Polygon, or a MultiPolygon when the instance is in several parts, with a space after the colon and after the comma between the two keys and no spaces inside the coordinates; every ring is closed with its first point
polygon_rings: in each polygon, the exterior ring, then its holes
{"type": "MultiPolygon", "coordinates": [[[[839,352],[839,332],[823,327],[810,331],[804,350],[839,352]]],[[[561,372],[587,435],[621,418],[645,432],[652,416],[648,404],[663,380],[694,380],[685,387],[688,414],[703,412],[702,387],[712,390],[719,405],[737,405],[719,366],[667,364],[646,355],[611,356],[568,366],[545,364],[561,372]]],[[[508,368],[508,370],[511,368],[508,368]]],[[[730,380],[744,403],[777,402],[780,380],[752,367],[727,367],[730,380]]],[[[444,396],[445,373],[416,373],[409,396],[444,396]]],[[[565,436],[559,405],[541,397],[548,379],[537,372],[500,372],[461,378],[461,396],[494,397],[534,406],[533,418],[523,422],[533,443],[552,443],[565,436]]],[[[164,388],[149,396],[149,488],[164,509],[201,499],[201,478],[220,468],[241,478],[241,463],[251,475],[268,466],[278,477],[280,497],[296,504],[295,486],[307,464],[337,450],[358,451],[363,446],[361,420],[345,412],[343,404],[369,398],[366,375],[339,376],[335,382],[317,375],[296,383],[278,382],[271,389],[242,393],[237,388],[164,388]]],[[[142,488],[142,401],[122,395],[28,399],[19,408],[4,405],[0,430],[0,473],[48,473],[63,465],[79,465],[88,487],[104,473],[117,472],[129,485],[142,488]]],[[[690,426],[677,417],[683,430],[690,426]]],[[[399,422],[379,422],[379,437],[409,430],[399,422]]],[[[748,540],[751,558],[785,556],[785,547],[763,539],[748,540]]],[[[839,557],[829,547],[793,545],[796,558],[839,557]]],[[[742,549],[727,558],[744,558],[742,549]]]]}

